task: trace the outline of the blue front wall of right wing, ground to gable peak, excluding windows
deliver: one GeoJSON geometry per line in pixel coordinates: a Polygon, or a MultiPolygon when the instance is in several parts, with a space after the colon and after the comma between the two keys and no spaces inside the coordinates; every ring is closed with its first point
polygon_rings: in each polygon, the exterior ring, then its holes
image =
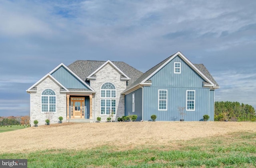
{"type": "Polygon", "coordinates": [[[203,88],[202,79],[186,62],[176,56],[149,80],[151,86],[144,87],[143,120],[151,120],[156,114],[158,121],[182,119],[179,108],[184,107],[185,121],[200,121],[208,114],[214,120],[214,90],[203,88]],[[174,62],[181,63],[181,73],[174,74],[174,62]],[[167,110],[158,110],[158,90],[167,90],[167,110]],[[195,90],[195,110],[186,110],[187,90],[195,90]]]}

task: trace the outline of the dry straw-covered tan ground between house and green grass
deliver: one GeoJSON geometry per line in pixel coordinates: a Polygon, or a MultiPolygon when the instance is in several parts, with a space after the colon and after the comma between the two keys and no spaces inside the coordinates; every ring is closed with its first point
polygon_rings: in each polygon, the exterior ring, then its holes
{"type": "Polygon", "coordinates": [[[62,123],[0,133],[0,153],[46,149],[83,150],[102,145],[134,148],[176,140],[256,132],[256,122],[62,123]]]}

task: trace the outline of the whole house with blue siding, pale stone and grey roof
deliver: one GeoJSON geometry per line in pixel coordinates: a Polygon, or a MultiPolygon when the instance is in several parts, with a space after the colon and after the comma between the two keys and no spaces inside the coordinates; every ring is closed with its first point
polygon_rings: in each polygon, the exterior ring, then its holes
{"type": "Polygon", "coordinates": [[[181,52],[166,58],[145,73],[124,62],[77,60],[61,63],[28,90],[30,120],[45,124],[45,112],[53,112],[51,123],[106,121],[136,114],[137,121],[180,119],[214,120],[214,90],[219,88],[203,64],[192,64],[181,52]]]}

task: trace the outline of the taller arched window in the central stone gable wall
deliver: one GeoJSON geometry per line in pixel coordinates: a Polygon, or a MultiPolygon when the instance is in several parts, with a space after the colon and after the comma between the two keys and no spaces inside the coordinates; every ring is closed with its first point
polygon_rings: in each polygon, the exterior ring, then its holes
{"type": "Polygon", "coordinates": [[[116,114],[116,87],[106,82],[100,89],[100,114],[116,114]]]}

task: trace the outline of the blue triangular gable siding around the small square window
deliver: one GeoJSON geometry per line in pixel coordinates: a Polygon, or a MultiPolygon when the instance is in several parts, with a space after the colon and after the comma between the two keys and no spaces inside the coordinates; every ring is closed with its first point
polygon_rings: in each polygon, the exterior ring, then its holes
{"type": "Polygon", "coordinates": [[[154,74],[149,80],[152,80],[152,87],[186,87],[202,88],[204,79],[202,79],[186,62],[179,56],[172,59],[166,66],[154,74]],[[174,74],[174,62],[181,63],[181,73],[174,74]]]}

